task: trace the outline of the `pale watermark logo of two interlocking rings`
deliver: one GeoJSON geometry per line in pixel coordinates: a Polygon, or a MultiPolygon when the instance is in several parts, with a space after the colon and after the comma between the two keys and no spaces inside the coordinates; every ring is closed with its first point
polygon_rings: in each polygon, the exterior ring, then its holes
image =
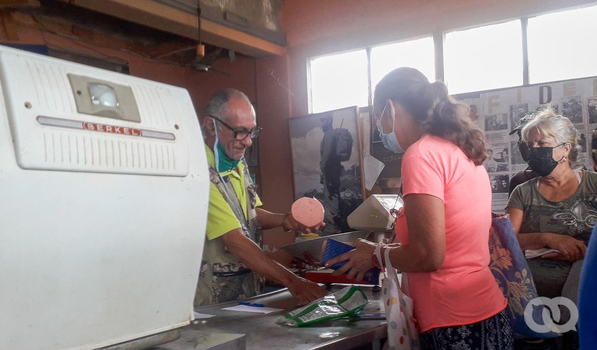
{"type": "Polygon", "coordinates": [[[537,333],[548,333],[553,331],[556,333],[566,333],[570,330],[576,330],[576,323],[578,322],[578,308],[576,304],[567,297],[555,297],[549,299],[548,297],[536,297],[531,300],[524,309],[524,320],[531,330],[537,333]],[[570,319],[564,324],[556,324],[559,322],[562,314],[559,306],[562,305],[570,311],[570,319]],[[533,306],[545,306],[541,312],[541,319],[543,324],[538,324],[533,318],[533,306]],[[549,311],[552,315],[549,315],[549,311]],[[553,319],[552,319],[553,318],[553,319]],[[555,322],[554,322],[555,321],[555,322]]]}

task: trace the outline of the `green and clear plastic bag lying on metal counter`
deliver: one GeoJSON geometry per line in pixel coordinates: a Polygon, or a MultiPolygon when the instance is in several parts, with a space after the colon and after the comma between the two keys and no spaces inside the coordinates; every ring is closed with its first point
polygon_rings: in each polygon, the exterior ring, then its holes
{"type": "Polygon", "coordinates": [[[276,323],[304,327],[341,317],[355,317],[362,314],[367,303],[364,291],[359,287],[350,286],[288,312],[276,318],[276,323]]]}

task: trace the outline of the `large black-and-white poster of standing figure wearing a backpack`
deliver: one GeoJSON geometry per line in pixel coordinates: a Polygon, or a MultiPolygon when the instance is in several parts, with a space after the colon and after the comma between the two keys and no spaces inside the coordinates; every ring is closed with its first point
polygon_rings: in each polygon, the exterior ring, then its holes
{"type": "Polygon", "coordinates": [[[362,203],[358,108],[291,118],[294,198],[316,198],[325,209],[320,234],[351,231],[346,217],[362,203]]]}

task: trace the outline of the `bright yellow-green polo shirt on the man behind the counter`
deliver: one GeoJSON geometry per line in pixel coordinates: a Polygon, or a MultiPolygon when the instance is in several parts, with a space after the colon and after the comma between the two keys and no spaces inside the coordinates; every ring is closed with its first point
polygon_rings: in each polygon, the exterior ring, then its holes
{"type": "MultiPolygon", "coordinates": [[[[211,151],[209,146],[205,145],[205,153],[207,153],[208,164],[216,168],[214,151],[211,151]]],[[[245,218],[247,218],[247,191],[245,191],[244,186],[244,168],[244,163],[239,162],[236,166],[236,170],[222,171],[220,175],[221,177],[229,177],[230,184],[232,185],[234,192],[236,192],[236,195],[241,202],[242,211],[245,213],[245,218]]],[[[260,206],[261,200],[259,199],[259,196],[257,196],[256,207],[260,206]]],[[[226,199],[224,199],[217,186],[214,185],[213,182],[210,182],[210,207],[207,213],[206,231],[208,240],[213,240],[214,238],[218,238],[221,235],[238,228],[241,228],[241,223],[236,219],[232,208],[230,208],[230,205],[226,202],[226,199]]]]}

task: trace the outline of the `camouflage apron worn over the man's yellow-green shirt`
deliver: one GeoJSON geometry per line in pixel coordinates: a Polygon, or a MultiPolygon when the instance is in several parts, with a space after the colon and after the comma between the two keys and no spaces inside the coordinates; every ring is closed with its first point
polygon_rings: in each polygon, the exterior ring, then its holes
{"type": "MultiPolygon", "coordinates": [[[[229,177],[221,177],[216,169],[210,166],[210,180],[217,186],[221,195],[230,205],[236,219],[241,223],[241,229],[245,236],[261,247],[261,226],[257,222],[257,213],[255,211],[257,186],[251,181],[247,164],[244,163],[244,165],[244,188],[247,192],[246,217],[229,177]]],[[[207,237],[205,238],[201,272],[195,293],[195,306],[256,296],[263,291],[263,285],[264,279],[230,254],[221,238],[215,238],[211,241],[207,237]]]]}

